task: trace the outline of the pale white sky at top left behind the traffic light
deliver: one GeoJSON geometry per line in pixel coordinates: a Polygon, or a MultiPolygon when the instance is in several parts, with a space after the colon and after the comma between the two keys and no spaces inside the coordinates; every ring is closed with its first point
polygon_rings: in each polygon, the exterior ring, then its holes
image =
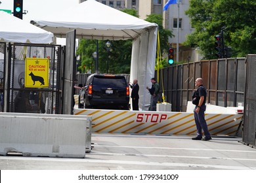
{"type": "MultiPolygon", "coordinates": [[[[13,0],[0,0],[0,9],[7,9],[13,12],[13,0]]],[[[77,5],[79,0],[23,0],[23,10],[28,14],[23,15],[23,20],[41,20],[49,17],[54,11],[65,10],[77,5]]]]}

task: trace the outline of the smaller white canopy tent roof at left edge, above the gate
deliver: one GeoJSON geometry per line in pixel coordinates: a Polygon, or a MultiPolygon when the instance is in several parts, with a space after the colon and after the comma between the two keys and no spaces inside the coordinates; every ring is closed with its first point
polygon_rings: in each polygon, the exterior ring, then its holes
{"type": "Polygon", "coordinates": [[[7,12],[0,11],[0,41],[51,43],[53,33],[40,29],[7,12]]]}

